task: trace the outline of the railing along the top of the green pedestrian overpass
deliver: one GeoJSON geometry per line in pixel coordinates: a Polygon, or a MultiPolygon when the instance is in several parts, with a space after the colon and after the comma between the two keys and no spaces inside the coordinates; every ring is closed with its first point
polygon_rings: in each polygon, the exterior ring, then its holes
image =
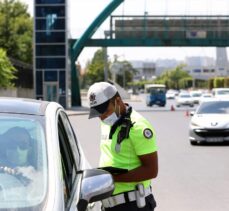
{"type": "Polygon", "coordinates": [[[111,39],[228,39],[229,16],[110,16],[111,39]]]}

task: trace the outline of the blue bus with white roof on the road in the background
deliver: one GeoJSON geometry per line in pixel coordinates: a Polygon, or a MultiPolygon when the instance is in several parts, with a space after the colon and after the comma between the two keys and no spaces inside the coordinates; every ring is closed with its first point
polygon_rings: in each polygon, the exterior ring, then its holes
{"type": "Polygon", "coordinates": [[[164,84],[145,85],[146,105],[158,105],[164,107],[166,104],[166,86],[164,84]]]}

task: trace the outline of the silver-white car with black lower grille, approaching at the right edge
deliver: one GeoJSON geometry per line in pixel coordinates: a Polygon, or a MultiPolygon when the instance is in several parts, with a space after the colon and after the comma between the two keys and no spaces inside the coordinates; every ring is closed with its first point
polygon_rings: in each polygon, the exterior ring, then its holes
{"type": "Polygon", "coordinates": [[[229,100],[202,102],[192,114],[189,140],[192,145],[229,142],[229,100]]]}

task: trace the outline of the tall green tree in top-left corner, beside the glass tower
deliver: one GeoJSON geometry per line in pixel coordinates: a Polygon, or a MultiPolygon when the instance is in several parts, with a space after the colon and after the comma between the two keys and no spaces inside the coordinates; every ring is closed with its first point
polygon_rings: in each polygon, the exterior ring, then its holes
{"type": "Polygon", "coordinates": [[[28,6],[15,0],[0,0],[0,46],[9,57],[32,63],[33,20],[28,6]]]}

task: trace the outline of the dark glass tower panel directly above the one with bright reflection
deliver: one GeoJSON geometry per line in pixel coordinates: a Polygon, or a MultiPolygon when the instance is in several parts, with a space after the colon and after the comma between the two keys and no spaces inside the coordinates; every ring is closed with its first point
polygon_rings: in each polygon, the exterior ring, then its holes
{"type": "Polygon", "coordinates": [[[36,17],[47,17],[47,15],[55,14],[56,17],[65,17],[65,6],[53,7],[36,7],[36,17]]]}

